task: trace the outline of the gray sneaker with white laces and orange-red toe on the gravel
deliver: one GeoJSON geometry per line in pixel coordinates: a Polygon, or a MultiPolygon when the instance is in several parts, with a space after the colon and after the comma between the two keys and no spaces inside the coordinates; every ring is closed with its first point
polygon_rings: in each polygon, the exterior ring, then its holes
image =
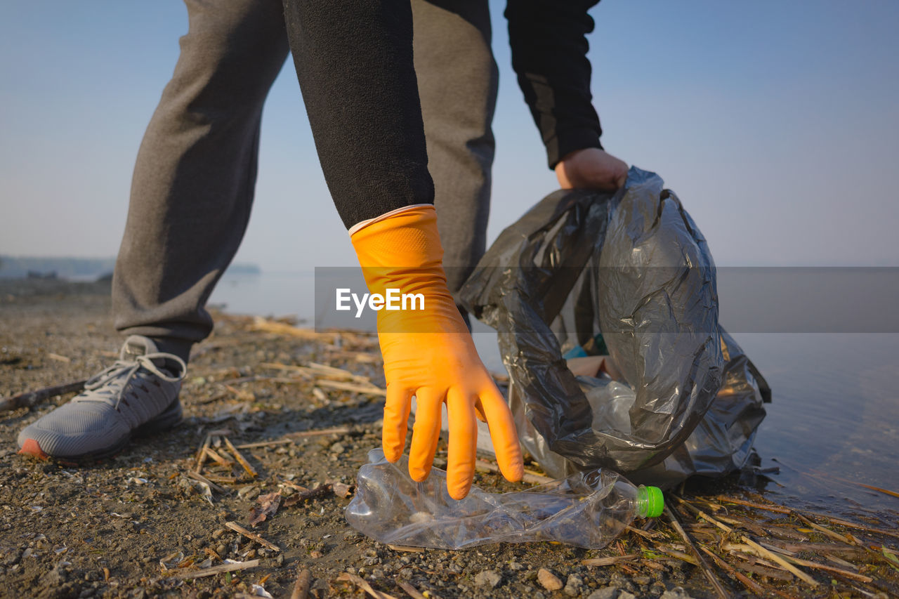
{"type": "Polygon", "coordinates": [[[178,356],[131,335],[119,360],[88,380],[84,391],[22,430],[19,453],[77,463],[120,451],[132,434],[177,425],[186,370],[178,356]]]}

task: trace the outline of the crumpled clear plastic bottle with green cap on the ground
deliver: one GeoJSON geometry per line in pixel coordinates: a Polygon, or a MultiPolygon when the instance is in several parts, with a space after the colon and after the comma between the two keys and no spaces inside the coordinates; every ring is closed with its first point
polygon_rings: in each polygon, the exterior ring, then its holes
{"type": "Polygon", "coordinates": [[[598,549],[636,517],[662,513],[662,491],[636,487],[617,472],[578,472],[526,491],[492,494],[472,487],[449,496],[446,472],[431,469],[421,483],[380,449],[369,451],[356,494],[346,508],[353,528],[382,543],[458,550],[492,542],[559,541],[598,549]]]}

